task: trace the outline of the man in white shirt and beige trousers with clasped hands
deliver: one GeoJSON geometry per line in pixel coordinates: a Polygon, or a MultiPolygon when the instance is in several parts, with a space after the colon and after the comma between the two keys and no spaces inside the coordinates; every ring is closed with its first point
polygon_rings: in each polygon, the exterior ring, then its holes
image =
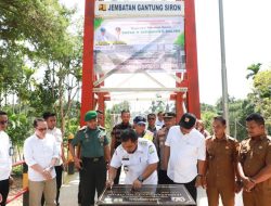
{"type": "Polygon", "coordinates": [[[34,120],[35,133],[24,143],[24,157],[28,165],[29,206],[41,203],[44,194],[46,205],[55,206],[56,180],[55,163],[60,157],[55,138],[47,133],[43,118],[34,120]]]}

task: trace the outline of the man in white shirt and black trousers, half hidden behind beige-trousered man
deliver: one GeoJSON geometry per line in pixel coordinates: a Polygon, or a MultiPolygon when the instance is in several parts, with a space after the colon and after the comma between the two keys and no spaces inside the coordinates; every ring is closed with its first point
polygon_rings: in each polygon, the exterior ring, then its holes
{"type": "MultiPolygon", "coordinates": [[[[60,158],[57,159],[57,162],[55,163],[54,169],[55,169],[55,173],[56,173],[56,205],[60,205],[59,203],[59,198],[60,198],[60,190],[61,190],[61,185],[62,185],[62,173],[63,173],[63,164],[66,164],[66,158],[64,155],[64,147],[63,147],[63,138],[62,138],[62,132],[59,128],[56,128],[56,115],[55,113],[50,113],[50,112],[46,112],[43,113],[43,118],[47,121],[47,133],[52,134],[55,138],[56,141],[56,147],[59,151],[59,155],[60,158]]],[[[41,205],[43,205],[44,203],[44,198],[42,196],[42,203],[41,205]]]]}

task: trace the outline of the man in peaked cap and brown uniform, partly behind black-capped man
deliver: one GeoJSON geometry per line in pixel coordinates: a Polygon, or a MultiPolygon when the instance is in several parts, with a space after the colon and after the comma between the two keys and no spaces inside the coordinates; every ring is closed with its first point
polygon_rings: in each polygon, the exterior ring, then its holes
{"type": "Polygon", "coordinates": [[[164,114],[164,127],[158,130],[155,137],[155,145],[157,147],[158,157],[160,159],[158,165],[158,183],[159,184],[170,184],[171,180],[167,176],[167,169],[164,164],[164,150],[165,142],[167,140],[167,134],[171,126],[176,125],[176,114],[165,113],[164,114]]]}

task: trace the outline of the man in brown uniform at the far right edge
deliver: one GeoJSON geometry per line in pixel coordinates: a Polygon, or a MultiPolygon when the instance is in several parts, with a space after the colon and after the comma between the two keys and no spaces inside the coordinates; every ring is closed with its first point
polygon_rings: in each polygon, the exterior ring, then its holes
{"type": "Polygon", "coordinates": [[[244,182],[244,206],[271,205],[271,138],[259,114],[246,118],[248,138],[241,143],[238,171],[244,182]]]}

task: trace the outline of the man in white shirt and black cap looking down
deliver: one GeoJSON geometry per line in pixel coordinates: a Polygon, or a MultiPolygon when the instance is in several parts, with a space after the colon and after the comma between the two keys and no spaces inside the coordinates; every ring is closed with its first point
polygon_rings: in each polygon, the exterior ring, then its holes
{"type": "Polygon", "coordinates": [[[203,185],[205,164],[205,138],[194,126],[196,117],[185,113],[179,123],[169,129],[165,143],[164,164],[173,183],[185,185],[196,202],[196,186],[203,185]]]}

